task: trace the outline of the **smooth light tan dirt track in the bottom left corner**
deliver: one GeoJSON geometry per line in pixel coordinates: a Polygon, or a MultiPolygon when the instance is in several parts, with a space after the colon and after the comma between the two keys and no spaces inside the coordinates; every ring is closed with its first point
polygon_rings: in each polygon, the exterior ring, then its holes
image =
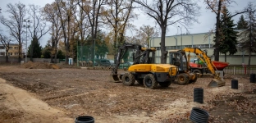
{"type": "Polygon", "coordinates": [[[1,110],[2,112],[0,112],[0,121],[2,121],[1,118],[5,119],[5,121],[6,119],[14,118],[18,120],[17,122],[28,122],[28,119],[36,119],[33,122],[73,121],[66,118],[62,110],[49,107],[47,103],[34,98],[33,93],[28,93],[23,89],[11,86],[6,83],[6,80],[1,78],[0,84],[2,88],[0,93],[5,97],[0,103],[0,109],[4,109],[4,111],[1,110]],[[59,117],[59,119],[55,117],[59,117]]]}

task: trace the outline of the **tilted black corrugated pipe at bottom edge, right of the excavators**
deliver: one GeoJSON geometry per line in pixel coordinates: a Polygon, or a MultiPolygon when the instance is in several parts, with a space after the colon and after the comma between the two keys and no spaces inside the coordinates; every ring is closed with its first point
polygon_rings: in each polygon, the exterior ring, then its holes
{"type": "Polygon", "coordinates": [[[190,113],[190,120],[195,123],[207,123],[209,118],[208,112],[199,108],[193,107],[190,113]]]}

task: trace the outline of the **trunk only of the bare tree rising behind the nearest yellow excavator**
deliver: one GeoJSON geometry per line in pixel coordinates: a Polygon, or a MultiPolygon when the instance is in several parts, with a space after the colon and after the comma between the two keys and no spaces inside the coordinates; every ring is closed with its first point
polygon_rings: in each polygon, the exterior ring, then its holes
{"type": "Polygon", "coordinates": [[[167,51],[165,47],[165,36],[166,36],[166,28],[162,27],[162,34],[161,34],[161,63],[167,63],[167,51]]]}

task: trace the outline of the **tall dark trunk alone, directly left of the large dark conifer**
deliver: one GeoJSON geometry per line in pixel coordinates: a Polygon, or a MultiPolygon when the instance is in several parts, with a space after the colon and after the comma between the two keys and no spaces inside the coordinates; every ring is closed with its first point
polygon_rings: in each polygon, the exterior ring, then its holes
{"type": "Polygon", "coordinates": [[[218,3],[218,8],[217,8],[217,16],[216,16],[216,32],[215,32],[215,37],[216,37],[216,42],[215,42],[215,52],[214,52],[214,60],[219,61],[219,52],[220,52],[220,15],[221,15],[221,9],[222,9],[222,0],[219,0],[218,3]]]}

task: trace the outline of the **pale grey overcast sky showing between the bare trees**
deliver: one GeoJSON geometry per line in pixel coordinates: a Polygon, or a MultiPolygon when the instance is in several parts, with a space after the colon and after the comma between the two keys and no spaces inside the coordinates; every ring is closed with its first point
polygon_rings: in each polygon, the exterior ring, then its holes
{"type": "MultiPolygon", "coordinates": [[[[54,2],[54,0],[0,0],[0,7],[2,8],[2,15],[6,16],[5,11],[7,9],[7,3],[17,3],[17,2],[21,2],[24,3],[25,5],[29,5],[29,4],[35,4],[35,5],[39,5],[40,7],[44,7],[45,4],[47,3],[52,3],[54,2]]],[[[254,2],[254,0],[235,0],[236,3],[232,3],[231,7],[228,8],[229,11],[231,11],[231,13],[234,13],[235,10],[242,10],[244,9],[248,2],[254,2]]],[[[190,26],[190,34],[198,34],[198,33],[206,33],[209,30],[213,30],[214,29],[214,25],[216,23],[216,16],[213,12],[211,12],[210,10],[206,9],[206,5],[203,3],[203,0],[199,0],[198,1],[199,6],[201,7],[200,12],[201,12],[201,16],[198,17],[198,21],[199,23],[194,23],[194,25],[190,26]]],[[[255,2],[254,2],[255,5],[255,2]]],[[[155,22],[153,21],[152,18],[150,18],[149,16],[147,16],[146,14],[144,14],[144,11],[141,10],[137,10],[137,12],[139,13],[139,19],[134,21],[134,25],[137,26],[137,28],[139,29],[139,26],[141,25],[151,25],[154,26],[155,22]]],[[[239,19],[239,16],[235,16],[234,22],[236,23],[239,19]]],[[[158,25],[157,25],[158,26],[158,25]]],[[[7,32],[5,31],[6,28],[4,28],[2,26],[2,24],[0,24],[0,28],[1,30],[3,30],[3,32],[7,32]]],[[[182,28],[182,33],[185,33],[185,29],[182,28]]],[[[128,33],[129,36],[135,35],[135,33],[128,33]]],[[[170,25],[168,26],[168,32],[167,32],[167,36],[170,35],[175,35],[175,34],[181,34],[181,30],[180,28],[177,29],[176,26],[170,25]]],[[[49,36],[46,35],[43,37],[43,39],[40,41],[41,45],[44,47],[45,44],[47,43],[47,40],[49,39],[49,36]]],[[[29,45],[30,43],[28,43],[29,45]]]]}

